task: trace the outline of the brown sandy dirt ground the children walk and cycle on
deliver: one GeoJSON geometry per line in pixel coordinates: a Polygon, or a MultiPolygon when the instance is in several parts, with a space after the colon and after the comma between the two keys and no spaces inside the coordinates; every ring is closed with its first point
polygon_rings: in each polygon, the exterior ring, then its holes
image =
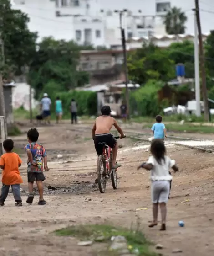
{"type": "MultiPolygon", "coordinates": [[[[10,193],[5,206],[0,208],[0,256],[97,255],[96,245],[81,247],[76,239],[56,237],[51,232],[71,224],[108,223],[130,228],[139,221],[140,229],[148,238],[164,246],[161,251],[164,256],[173,255],[176,248],[183,251],[178,256],[213,256],[213,154],[183,146],[168,147],[168,155],[176,160],[181,171],[173,179],[167,231],[160,232],[158,227],[148,228],[152,220],[149,172],[136,171],[138,164],[148,158],[148,149],[136,149],[132,139],[120,140],[118,161],[122,168],[117,173],[118,189],[113,190],[109,183],[106,193],[101,194],[94,184],[96,153],[90,126],[64,123],[38,128],[39,141],[46,147],[51,169],[45,173],[47,204],[38,206],[38,196],[32,205],[25,203],[26,156],[21,155],[23,207],[14,206],[10,193]],[[63,155],[63,159],[57,159],[58,154],[63,155]],[[49,185],[57,189],[48,190],[49,185]],[[179,220],[185,222],[184,228],[178,226],[179,220]]],[[[26,144],[26,134],[13,139],[16,148],[22,149],[26,144]]]]}

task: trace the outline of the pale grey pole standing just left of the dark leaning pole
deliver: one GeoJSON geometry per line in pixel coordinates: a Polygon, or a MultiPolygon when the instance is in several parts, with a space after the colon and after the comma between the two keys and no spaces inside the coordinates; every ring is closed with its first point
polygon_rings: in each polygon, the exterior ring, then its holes
{"type": "Polygon", "coordinates": [[[199,74],[199,43],[198,43],[198,27],[196,12],[194,11],[194,66],[195,66],[195,100],[196,100],[196,116],[201,116],[201,99],[200,99],[200,74],[199,74]]]}

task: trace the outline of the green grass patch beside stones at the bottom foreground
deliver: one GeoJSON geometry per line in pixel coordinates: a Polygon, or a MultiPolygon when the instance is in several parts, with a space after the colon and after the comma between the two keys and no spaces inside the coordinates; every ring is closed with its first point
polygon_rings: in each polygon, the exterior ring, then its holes
{"type": "MultiPolygon", "coordinates": [[[[97,241],[98,237],[103,237],[102,242],[110,245],[112,236],[122,235],[127,239],[130,252],[138,249],[140,256],[156,256],[157,254],[149,250],[151,243],[146,240],[140,231],[130,231],[123,228],[116,228],[110,225],[81,225],[70,226],[66,229],[55,231],[56,235],[72,236],[80,240],[97,241]]],[[[106,254],[111,255],[111,254],[106,254]]]]}

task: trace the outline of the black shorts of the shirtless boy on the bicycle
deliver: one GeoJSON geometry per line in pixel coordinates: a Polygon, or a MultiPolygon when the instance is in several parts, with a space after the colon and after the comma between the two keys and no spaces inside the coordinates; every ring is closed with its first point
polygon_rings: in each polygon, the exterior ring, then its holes
{"type": "Polygon", "coordinates": [[[117,143],[117,139],[113,137],[111,133],[96,134],[94,138],[94,146],[97,151],[97,155],[102,155],[103,145],[100,142],[105,142],[111,149],[113,149],[117,143]]]}

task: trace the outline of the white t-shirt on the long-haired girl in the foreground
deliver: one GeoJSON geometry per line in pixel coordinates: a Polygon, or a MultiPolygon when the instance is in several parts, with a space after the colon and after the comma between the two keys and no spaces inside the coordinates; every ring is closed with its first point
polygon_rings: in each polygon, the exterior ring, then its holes
{"type": "Polygon", "coordinates": [[[165,162],[162,159],[161,165],[160,165],[152,155],[149,157],[147,164],[153,165],[153,169],[151,170],[152,181],[171,181],[172,180],[173,177],[169,174],[169,169],[175,165],[175,160],[172,160],[170,157],[166,155],[165,162]]]}

